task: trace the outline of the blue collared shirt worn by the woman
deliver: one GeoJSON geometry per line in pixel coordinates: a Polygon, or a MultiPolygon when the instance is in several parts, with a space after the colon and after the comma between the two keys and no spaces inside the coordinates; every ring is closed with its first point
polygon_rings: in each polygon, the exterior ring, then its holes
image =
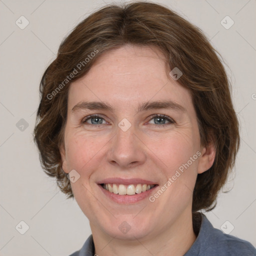
{"type": "MultiPolygon", "coordinates": [[[[212,226],[205,215],[196,240],[183,256],[255,256],[256,249],[248,241],[225,234],[212,226]]],[[[95,248],[90,235],[82,248],[70,256],[94,256],[95,248]]]]}

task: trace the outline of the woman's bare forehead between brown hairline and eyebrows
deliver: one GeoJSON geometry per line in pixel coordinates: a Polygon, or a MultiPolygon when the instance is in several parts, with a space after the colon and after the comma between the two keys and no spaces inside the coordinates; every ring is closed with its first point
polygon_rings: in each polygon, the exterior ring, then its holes
{"type": "Polygon", "coordinates": [[[144,101],[173,100],[191,107],[189,91],[166,75],[165,56],[156,48],[134,45],[106,51],[70,85],[69,108],[84,100],[127,108],[144,101]]]}

